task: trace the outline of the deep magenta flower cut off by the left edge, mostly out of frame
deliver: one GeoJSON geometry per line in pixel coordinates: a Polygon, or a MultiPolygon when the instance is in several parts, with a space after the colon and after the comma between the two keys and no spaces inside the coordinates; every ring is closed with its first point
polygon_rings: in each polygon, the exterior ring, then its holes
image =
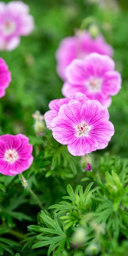
{"type": "Polygon", "coordinates": [[[11,73],[8,70],[6,62],[0,58],[0,98],[5,96],[5,90],[11,81],[11,73]]]}

